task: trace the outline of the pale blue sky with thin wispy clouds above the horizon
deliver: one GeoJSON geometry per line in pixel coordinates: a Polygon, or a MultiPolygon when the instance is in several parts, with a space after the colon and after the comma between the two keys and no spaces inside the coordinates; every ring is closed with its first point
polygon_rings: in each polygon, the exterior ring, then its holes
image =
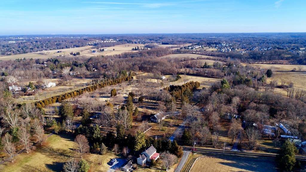
{"type": "Polygon", "coordinates": [[[0,0],[0,35],[306,32],[306,0],[0,0]]]}

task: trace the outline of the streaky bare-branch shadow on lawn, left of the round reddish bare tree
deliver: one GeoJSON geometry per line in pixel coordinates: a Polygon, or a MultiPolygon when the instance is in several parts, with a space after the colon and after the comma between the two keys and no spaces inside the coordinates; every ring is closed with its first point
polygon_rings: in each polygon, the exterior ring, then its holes
{"type": "Polygon", "coordinates": [[[66,149],[56,149],[50,146],[44,146],[44,147],[39,147],[36,150],[41,154],[53,157],[54,159],[66,160],[68,158],[75,158],[75,156],[73,156],[74,152],[66,149]]]}

